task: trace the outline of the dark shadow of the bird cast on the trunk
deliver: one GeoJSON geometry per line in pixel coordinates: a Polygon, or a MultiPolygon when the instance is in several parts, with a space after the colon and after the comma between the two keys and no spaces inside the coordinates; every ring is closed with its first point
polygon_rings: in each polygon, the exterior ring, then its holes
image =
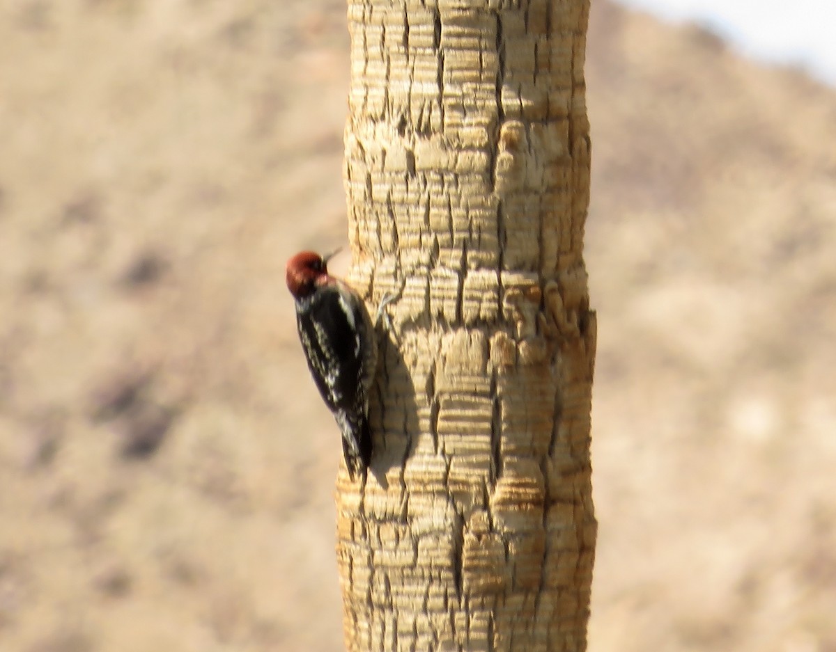
{"type": "Polygon", "coordinates": [[[415,384],[400,347],[385,337],[378,351],[375,390],[370,401],[372,458],[370,473],[388,488],[392,471],[402,474],[419,432],[415,384]]]}

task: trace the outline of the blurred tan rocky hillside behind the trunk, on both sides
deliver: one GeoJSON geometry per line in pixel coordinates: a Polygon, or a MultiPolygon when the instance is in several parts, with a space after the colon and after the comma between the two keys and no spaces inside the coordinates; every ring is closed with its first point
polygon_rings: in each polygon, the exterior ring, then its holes
{"type": "MultiPolygon", "coordinates": [[[[4,652],[342,649],[344,14],[0,2],[4,652]]],[[[836,90],[709,23],[593,2],[589,649],[833,652],[836,90]]]]}

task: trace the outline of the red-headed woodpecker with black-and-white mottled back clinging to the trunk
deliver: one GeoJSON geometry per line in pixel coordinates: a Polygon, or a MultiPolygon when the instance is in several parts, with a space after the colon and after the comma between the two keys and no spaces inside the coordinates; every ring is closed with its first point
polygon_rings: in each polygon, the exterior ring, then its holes
{"type": "Polygon", "coordinates": [[[313,251],[294,255],[285,268],[296,304],[296,326],[308,369],[343,433],[349,475],[365,475],[372,453],[369,391],[375,379],[375,327],[360,296],[328,273],[313,251]]]}

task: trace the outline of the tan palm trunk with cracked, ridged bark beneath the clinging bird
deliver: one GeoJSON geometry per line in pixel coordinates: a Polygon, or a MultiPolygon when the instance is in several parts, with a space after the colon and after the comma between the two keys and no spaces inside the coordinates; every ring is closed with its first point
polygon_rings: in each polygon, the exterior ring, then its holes
{"type": "Polygon", "coordinates": [[[349,0],[350,281],[386,293],[345,640],[582,650],[596,523],[588,0],[349,0]]]}

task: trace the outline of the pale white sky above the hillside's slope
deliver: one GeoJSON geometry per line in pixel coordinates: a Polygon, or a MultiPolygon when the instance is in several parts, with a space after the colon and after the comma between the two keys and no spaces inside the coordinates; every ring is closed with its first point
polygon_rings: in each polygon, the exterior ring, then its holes
{"type": "Polygon", "coordinates": [[[836,0],[619,0],[696,21],[762,61],[798,65],[836,86],[836,0]]]}

